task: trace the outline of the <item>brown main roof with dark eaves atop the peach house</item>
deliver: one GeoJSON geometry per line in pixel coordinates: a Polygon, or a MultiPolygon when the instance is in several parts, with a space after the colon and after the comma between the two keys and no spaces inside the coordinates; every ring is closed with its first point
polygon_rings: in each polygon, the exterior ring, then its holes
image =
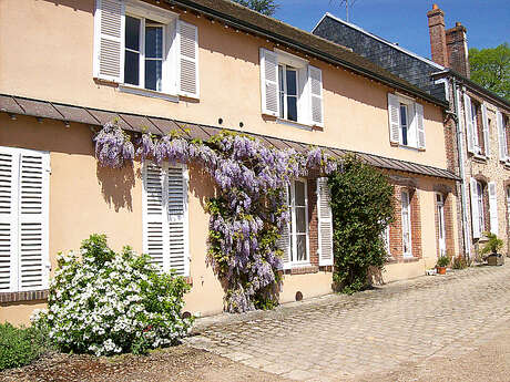
{"type": "Polygon", "coordinates": [[[440,106],[448,106],[443,100],[430,95],[420,87],[353,52],[350,49],[279,20],[263,16],[230,0],[165,0],[165,2],[212,19],[218,19],[234,29],[283,43],[325,62],[349,69],[390,87],[410,93],[440,106]]]}

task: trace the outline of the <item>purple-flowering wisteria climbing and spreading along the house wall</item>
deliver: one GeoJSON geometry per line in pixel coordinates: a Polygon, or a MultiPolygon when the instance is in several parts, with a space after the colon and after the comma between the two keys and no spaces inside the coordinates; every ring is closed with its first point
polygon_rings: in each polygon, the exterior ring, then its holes
{"type": "Polygon", "coordinates": [[[134,149],[114,121],[94,137],[101,165],[121,167],[135,157],[161,164],[198,163],[212,176],[218,196],[211,214],[208,258],[225,288],[225,310],[244,312],[277,304],[282,256],[277,239],[289,219],[285,188],[309,171],[329,174],[337,162],[318,147],[306,153],[267,147],[246,134],[222,131],[207,141],[178,133],[142,133],[134,149]]]}

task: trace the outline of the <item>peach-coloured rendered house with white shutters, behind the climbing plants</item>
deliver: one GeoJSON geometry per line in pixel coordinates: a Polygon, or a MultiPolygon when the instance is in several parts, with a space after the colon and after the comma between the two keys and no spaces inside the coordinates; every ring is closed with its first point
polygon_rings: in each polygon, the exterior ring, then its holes
{"type": "MultiPolygon", "coordinates": [[[[27,322],[43,307],[57,254],[93,233],[187,277],[185,310],[223,310],[206,260],[212,179],[195,165],[101,167],[92,138],[114,118],[133,134],[230,128],[278,148],[357,153],[396,186],[384,280],[424,275],[441,250],[458,252],[447,103],[310,33],[226,0],[7,0],[0,66],[0,321],[27,322]]],[[[306,246],[289,249],[282,302],[332,291],[319,186],[313,176],[292,185],[305,195],[294,199],[306,221],[293,235],[306,246]]]]}

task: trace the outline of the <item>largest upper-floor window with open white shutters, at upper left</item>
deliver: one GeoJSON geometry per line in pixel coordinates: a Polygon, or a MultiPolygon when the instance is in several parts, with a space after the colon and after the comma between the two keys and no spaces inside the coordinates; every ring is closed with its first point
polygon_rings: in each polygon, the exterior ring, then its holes
{"type": "Polygon", "coordinates": [[[119,90],[171,101],[197,99],[197,28],[139,0],[96,0],[94,78],[119,90]]]}

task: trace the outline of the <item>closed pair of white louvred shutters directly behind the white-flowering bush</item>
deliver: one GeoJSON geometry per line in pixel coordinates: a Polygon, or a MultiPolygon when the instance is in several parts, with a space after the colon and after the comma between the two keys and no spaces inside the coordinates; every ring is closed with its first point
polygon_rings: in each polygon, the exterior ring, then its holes
{"type": "Polygon", "coordinates": [[[184,166],[144,165],[143,251],[181,276],[190,276],[187,183],[184,166]]]}

